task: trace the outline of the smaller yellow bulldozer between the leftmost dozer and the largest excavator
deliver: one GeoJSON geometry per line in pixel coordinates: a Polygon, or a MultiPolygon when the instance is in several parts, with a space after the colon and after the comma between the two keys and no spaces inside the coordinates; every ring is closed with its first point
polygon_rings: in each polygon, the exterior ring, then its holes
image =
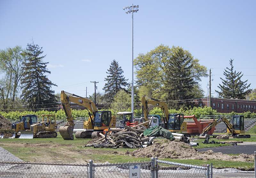
{"type": "Polygon", "coordinates": [[[34,138],[56,138],[57,124],[55,115],[41,116],[43,116],[41,122],[30,125],[30,131],[33,132],[34,138]]]}

